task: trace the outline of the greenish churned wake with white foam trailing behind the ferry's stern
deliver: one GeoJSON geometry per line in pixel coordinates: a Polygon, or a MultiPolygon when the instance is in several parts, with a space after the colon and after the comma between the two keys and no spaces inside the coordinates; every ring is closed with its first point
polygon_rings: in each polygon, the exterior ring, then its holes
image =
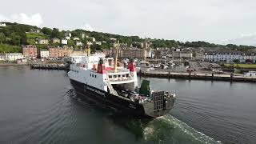
{"type": "Polygon", "coordinates": [[[143,128],[146,143],[221,143],[194,130],[170,114],[155,118],[143,128]]]}

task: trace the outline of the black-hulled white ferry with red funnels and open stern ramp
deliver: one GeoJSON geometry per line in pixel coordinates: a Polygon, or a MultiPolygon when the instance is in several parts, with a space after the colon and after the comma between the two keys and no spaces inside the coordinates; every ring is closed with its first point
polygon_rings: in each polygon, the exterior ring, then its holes
{"type": "Polygon", "coordinates": [[[118,48],[115,58],[104,54],[90,54],[71,58],[68,76],[78,96],[95,102],[103,108],[131,116],[157,118],[174,106],[175,94],[151,90],[150,81],[143,80],[138,87],[135,63],[118,66],[118,48]]]}

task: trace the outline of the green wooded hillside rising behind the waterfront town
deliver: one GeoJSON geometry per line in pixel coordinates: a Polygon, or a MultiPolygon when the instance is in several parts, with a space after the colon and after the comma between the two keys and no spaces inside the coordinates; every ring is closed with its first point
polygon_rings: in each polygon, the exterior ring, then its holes
{"type": "MultiPolygon", "coordinates": [[[[142,42],[147,41],[150,43],[150,47],[177,47],[177,46],[186,46],[186,47],[210,47],[214,49],[215,47],[221,47],[223,49],[229,50],[242,50],[248,51],[255,49],[254,46],[237,46],[229,44],[226,46],[216,45],[210,42],[179,42],[175,40],[165,40],[165,39],[155,39],[155,38],[139,38],[138,36],[123,36],[119,34],[108,34],[95,31],[86,31],[86,30],[62,30],[59,31],[57,28],[50,29],[47,27],[39,28],[37,26],[30,26],[18,23],[5,22],[6,26],[0,27],[0,42],[3,44],[8,44],[10,46],[22,46],[27,44],[37,44],[38,39],[47,39],[49,44],[44,46],[38,46],[41,48],[46,48],[47,46],[62,46],[61,44],[56,44],[51,41],[52,38],[65,39],[68,34],[71,34],[71,39],[68,40],[68,46],[73,46],[74,48],[80,49],[81,46],[76,46],[75,40],[73,38],[79,38],[79,41],[82,42],[83,46],[87,45],[87,42],[92,41],[90,38],[95,38],[96,42],[101,44],[92,44],[91,48],[93,50],[102,50],[110,49],[114,46],[114,40],[118,39],[122,46],[134,46],[141,48],[142,42]],[[82,37],[86,35],[85,37],[82,37]]],[[[38,44],[37,44],[38,45],[38,44]]],[[[9,47],[10,47],[9,46],[9,47]]],[[[9,50],[11,51],[11,50],[9,50]]],[[[1,51],[0,51],[1,52],[1,51]]]]}

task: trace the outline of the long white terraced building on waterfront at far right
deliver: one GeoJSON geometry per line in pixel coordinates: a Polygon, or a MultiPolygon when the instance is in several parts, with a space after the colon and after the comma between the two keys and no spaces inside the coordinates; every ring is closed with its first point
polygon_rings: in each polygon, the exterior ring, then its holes
{"type": "Polygon", "coordinates": [[[250,59],[251,62],[256,62],[255,53],[242,52],[205,52],[204,60],[209,62],[234,62],[237,59],[239,62],[246,62],[250,59]]]}

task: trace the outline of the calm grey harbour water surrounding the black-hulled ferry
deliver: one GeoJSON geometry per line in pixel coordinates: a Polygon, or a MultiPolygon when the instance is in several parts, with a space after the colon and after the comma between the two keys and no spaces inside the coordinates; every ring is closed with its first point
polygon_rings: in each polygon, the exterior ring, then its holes
{"type": "Polygon", "coordinates": [[[149,122],[80,100],[65,71],[0,66],[0,143],[256,142],[255,84],[147,79],[178,94],[149,122]]]}

